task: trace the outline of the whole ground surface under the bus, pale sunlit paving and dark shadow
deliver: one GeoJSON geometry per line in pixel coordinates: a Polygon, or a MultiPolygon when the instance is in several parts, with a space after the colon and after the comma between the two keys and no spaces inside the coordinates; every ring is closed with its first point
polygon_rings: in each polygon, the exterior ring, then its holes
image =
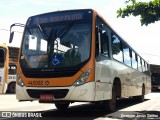
{"type": "Polygon", "coordinates": [[[14,94],[0,95],[0,98],[0,116],[3,116],[1,119],[15,119],[18,116],[19,119],[30,117],[34,120],[46,118],[55,120],[160,120],[160,91],[146,95],[142,103],[133,99],[118,100],[116,111],[112,113],[104,111],[103,104],[73,103],[68,110],[58,111],[54,104],[39,104],[37,101],[18,102],[14,94]],[[8,114],[10,118],[7,118],[8,114]]]}

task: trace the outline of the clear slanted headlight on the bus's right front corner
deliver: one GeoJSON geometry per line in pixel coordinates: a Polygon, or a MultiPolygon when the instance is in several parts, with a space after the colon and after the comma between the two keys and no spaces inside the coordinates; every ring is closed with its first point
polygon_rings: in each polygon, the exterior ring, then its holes
{"type": "Polygon", "coordinates": [[[73,86],[76,87],[76,86],[79,86],[79,85],[83,85],[83,84],[86,82],[86,80],[87,80],[90,72],[91,72],[91,69],[88,69],[86,72],[84,72],[84,73],[78,78],[78,80],[73,84],[73,86]]]}

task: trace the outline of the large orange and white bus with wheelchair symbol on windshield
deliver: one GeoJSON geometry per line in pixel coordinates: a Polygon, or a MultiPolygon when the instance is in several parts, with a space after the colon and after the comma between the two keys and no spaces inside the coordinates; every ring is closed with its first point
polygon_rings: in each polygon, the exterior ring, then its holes
{"type": "Polygon", "coordinates": [[[95,10],[28,18],[17,65],[19,101],[54,103],[58,110],[91,102],[115,111],[117,99],[142,102],[149,92],[149,64],[95,10]]]}

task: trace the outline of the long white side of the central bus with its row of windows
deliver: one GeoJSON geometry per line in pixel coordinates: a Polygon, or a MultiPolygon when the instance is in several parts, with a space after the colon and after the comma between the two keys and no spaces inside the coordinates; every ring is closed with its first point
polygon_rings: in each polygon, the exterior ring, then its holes
{"type": "MultiPolygon", "coordinates": [[[[118,98],[149,93],[150,80],[145,74],[148,71],[146,62],[99,16],[96,18],[96,26],[100,29],[100,37],[97,36],[100,38],[101,52],[96,56],[95,101],[111,99],[113,85],[118,98]]],[[[98,48],[97,45],[96,47],[98,48]]]]}

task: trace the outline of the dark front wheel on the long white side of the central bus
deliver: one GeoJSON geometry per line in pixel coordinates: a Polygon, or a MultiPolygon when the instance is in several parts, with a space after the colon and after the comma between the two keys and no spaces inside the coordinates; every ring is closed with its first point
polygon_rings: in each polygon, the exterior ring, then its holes
{"type": "Polygon", "coordinates": [[[116,109],[116,101],[117,101],[116,88],[113,85],[113,87],[112,87],[112,98],[110,100],[103,101],[105,110],[110,111],[110,112],[115,111],[115,109],[116,109]]]}

